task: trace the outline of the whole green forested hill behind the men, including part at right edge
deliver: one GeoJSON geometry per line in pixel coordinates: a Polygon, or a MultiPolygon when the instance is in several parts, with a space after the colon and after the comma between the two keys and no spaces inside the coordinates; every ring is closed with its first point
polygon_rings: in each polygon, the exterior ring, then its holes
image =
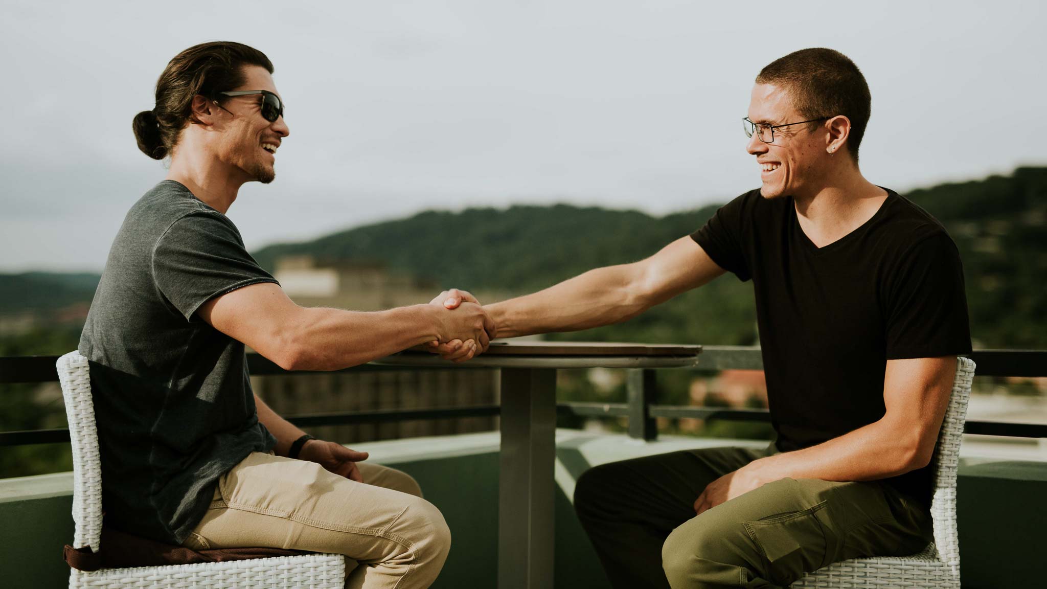
{"type": "MultiPolygon", "coordinates": [[[[976,345],[1047,347],[1047,168],[906,196],[937,217],[960,248],[976,345]]],[[[380,260],[445,287],[521,291],[649,256],[715,210],[662,218],[563,204],[425,212],[269,246],[255,257],[269,269],[285,255],[380,260]]],[[[754,324],[751,287],[728,277],[627,324],[571,337],[749,344],[754,324]]]]}

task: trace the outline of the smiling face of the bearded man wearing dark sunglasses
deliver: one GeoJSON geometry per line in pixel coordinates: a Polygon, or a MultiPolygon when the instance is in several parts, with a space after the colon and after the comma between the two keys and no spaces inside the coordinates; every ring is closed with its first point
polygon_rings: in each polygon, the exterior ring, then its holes
{"type": "MultiPolygon", "coordinates": [[[[245,66],[244,83],[233,90],[269,90],[280,95],[272,75],[259,66],[245,66]]],[[[222,133],[214,145],[215,155],[239,169],[245,181],[271,182],[276,177],[276,149],[290,134],[284,117],[270,123],[262,116],[262,94],[223,97],[220,104],[224,110],[217,114],[222,133]]]]}

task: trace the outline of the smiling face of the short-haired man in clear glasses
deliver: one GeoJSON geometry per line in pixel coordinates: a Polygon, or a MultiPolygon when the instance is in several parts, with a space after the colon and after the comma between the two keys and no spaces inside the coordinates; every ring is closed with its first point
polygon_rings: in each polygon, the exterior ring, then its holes
{"type": "MultiPolygon", "coordinates": [[[[807,121],[793,106],[788,93],[772,84],[753,87],[749,104],[749,119],[765,125],[786,125],[807,121]]],[[[821,123],[794,125],[775,129],[774,143],[761,141],[754,133],[745,151],[756,156],[760,167],[760,195],[764,198],[794,196],[804,198],[816,194],[822,186],[829,153],[829,135],[821,123]]]]}

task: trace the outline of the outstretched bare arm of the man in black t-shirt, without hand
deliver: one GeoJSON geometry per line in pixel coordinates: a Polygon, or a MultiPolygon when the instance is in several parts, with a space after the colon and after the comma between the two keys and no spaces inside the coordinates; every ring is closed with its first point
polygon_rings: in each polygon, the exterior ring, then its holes
{"type": "Polygon", "coordinates": [[[723,271],[693,239],[683,237],[646,260],[589,270],[485,308],[499,337],[576,331],[631,319],[723,271]]]}

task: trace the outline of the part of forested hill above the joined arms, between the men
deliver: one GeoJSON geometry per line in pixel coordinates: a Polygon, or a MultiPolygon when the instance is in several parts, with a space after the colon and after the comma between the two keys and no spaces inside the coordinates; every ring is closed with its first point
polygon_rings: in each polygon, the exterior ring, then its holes
{"type": "Polygon", "coordinates": [[[266,247],[255,259],[267,269],[286,255],[382,260],[443,286],[533,289],[649,256],[715,211],[714,205],[662,218],[566,204],[428,211],[308,243],[266,247]]]}

